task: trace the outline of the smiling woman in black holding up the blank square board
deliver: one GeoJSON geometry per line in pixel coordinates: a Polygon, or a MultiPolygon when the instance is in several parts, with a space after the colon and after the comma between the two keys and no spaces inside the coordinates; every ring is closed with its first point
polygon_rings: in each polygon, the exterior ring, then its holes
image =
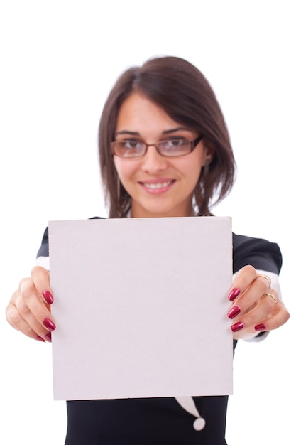
{"type": "MultiPolygon", "coordinates": [[[[110,218],[212,215],[231,190],[235,162],[224,117],[202,73],[185,60],[154,58],[119,77],[99,125],[99,159],[110,218]]],[[[278,245],[233,235],[229,289],[234,346],[283,325],[278,245]]],[[[6,318],[50,341],[55,321],[48,230],[31,277],[21,280],[6,318]]],[[[67,402],[66,444],[226,444],[227,397],[67,402]]]]}

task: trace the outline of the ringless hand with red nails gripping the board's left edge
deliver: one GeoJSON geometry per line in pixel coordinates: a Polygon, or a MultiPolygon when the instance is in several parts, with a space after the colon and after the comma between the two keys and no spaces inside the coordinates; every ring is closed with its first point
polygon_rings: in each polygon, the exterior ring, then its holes
{"type": "Polygon", "coordinates": [[[39,341],[51,341],[55,321],[50,313],[53,292],[50,274],[44,267],[32,269],[30,278],[23,278],[6,308],[9,324],[26,336],[39,341]]]}

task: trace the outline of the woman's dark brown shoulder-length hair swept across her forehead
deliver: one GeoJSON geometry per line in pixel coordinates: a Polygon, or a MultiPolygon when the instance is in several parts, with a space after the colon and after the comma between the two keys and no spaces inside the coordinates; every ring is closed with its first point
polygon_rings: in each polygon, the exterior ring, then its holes
{"type": "Polygon", "coordinates": [[[182,58],[153,58],[141,67],[126,70],[106,100],[99,124],[99,161],[110,218],[124,218],[131,197],[119,183],[111,153],[116,119],[124,100],[141,92],[162,107],[175,122],[204,134],[212,154],[209,171],[202,168],[194,199],[198,215],[211,215],[210,208],[231,191],[236,164],[229,133],[216,95],[204,75],[182,58]]]}

